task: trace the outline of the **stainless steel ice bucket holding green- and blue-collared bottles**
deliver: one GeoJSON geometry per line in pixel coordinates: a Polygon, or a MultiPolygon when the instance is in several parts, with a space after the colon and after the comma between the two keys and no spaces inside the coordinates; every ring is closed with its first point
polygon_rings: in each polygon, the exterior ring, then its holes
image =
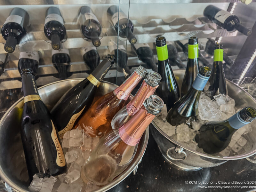
{"type": "MultiPolygon", "coordinates": [[[[181,87],[184,77],[184,69],[174,70],[176,80],[181,87]]],[[[227,81],[228,94],[236,101],[237,108],[245,106],[256,107],[256,101],[231,81],[227,81]]],[[[198,170],[203,167],[214,167],[227,162],[228,160],[236,160],[252,156],[256,153],[256,121],[252,122],[252,132],[243,135],[247,140],[246,150],[243,154],[236,154],[233,156],[212,156],[206,153],[200,153],[195,150],[180,144],[179,142],[168,137],[153,121],[154,126],[150,126],[150,131],[156,140],[159,150],[164,158],[171,164],[176,165],[183,170],[198,170]]]]}

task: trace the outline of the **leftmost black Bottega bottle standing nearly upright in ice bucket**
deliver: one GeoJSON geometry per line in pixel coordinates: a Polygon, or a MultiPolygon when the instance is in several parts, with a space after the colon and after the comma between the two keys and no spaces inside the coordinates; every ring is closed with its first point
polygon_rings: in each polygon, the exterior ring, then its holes
{"type": "Polygon", "coordinates": [[[35,65],[37,61],[30,57],[24,62],[24,55],[28,55],[28,52],[20,54],[22,56],[18,69],[24,93],[21,139],[29,178],[32,180],[33,175],[38,172],[59,175],[66,171],[67,166],[54,121],[36,87],[33,71],[38,68],[38,65],[35,65]]]}

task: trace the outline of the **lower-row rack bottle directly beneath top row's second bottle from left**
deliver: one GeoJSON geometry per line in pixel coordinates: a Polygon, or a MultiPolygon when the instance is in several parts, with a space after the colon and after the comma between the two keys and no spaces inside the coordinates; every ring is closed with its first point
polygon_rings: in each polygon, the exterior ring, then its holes
{"type": "Polygon", "coordinates": [[[67,79],[68,69],[70,68],[70,56],[68,49],[52,49],[52,63],[59,72],[59,74],[55,77],[59,78],[60,80],[67,79]]]}

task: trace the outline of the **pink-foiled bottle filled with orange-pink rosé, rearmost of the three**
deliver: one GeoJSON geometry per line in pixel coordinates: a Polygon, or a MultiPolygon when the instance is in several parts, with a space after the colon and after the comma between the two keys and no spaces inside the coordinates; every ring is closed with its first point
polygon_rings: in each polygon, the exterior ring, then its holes
{"type": "Polygon", "coordinates": [[[116,113],[124,107],[132,90],[146,75],[146,69],[142,66],[135,69],[126,81],[102,97],[100,97],[83,116],[78,120],[75,128],[84,129],[86,135],[91,137],[105,135],[111,131],[111,120],[116,113]]]}

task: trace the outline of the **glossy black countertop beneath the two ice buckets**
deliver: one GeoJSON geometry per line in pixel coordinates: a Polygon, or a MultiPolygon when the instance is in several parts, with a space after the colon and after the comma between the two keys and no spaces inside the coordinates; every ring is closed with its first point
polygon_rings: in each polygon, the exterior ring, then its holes
{"type": "Polygon", "coordinates": [[[148,147],[136,175],[131,173],[109,191],[256,191],[256,164],[242,159],[228,161],[222,165],[203,168],[199,171],[178,170],[166,162],[150,133],[148,147]],[[210,188],[204,188],[207,186],[210,188]]]}

